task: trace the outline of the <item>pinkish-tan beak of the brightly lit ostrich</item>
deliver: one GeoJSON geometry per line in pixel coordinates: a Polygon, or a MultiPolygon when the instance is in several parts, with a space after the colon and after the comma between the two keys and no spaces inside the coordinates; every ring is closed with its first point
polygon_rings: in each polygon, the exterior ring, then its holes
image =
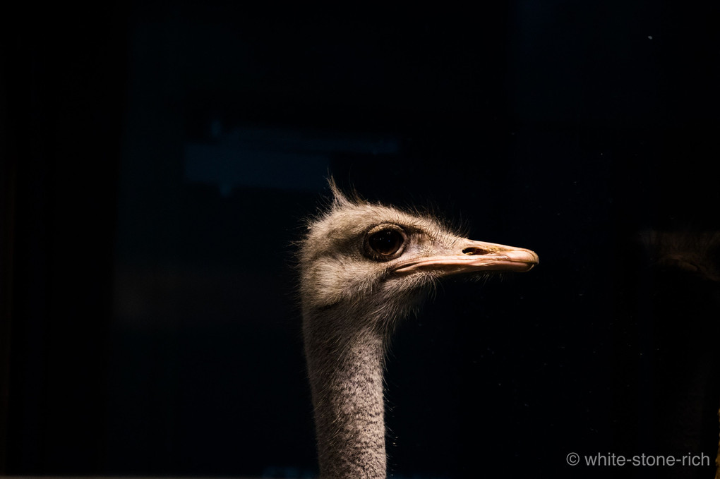
{"type": "Polygon", "coordinates": [[[405,260],[396,265],[394,271],[401,275],[415,271],[439,271],[448,275],[484,271],[524,272],[538,263],[538,255],[525,248],[465,239],[457,242],[457,252],[405,260]]]}

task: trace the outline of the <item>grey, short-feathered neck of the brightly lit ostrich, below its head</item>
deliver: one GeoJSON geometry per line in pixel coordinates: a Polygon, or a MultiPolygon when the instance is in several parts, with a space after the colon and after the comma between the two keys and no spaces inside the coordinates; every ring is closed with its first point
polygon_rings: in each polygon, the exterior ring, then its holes
{"type": "Polygon", "coordinates": [[[320,477],[385,478],[385,334],[368,323],[358,327],[347,311],[308,316],[305,353],[320,477]]]}

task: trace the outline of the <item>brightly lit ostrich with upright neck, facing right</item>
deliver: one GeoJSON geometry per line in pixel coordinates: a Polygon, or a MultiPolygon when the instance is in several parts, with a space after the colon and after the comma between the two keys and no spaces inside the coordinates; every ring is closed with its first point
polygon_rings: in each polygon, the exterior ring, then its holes
{"type": "Polygon", "coordinates": [[[433,283],[456,273],[528,271],[538,256],[472,241],[431,216],[348,198],[300,244],[307,373],[322,478],[386,477],[383,367],[390,335],[433,283]]]}

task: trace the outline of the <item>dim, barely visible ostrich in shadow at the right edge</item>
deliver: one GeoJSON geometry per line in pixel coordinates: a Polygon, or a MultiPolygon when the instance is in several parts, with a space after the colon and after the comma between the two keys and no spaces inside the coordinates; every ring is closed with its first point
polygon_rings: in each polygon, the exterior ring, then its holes
{"type": "Polygon", "coordinates": [[[652,387],[654,397],[644,414],[662,425],[652,437],[666,451],[716,445],[720,479],[720,231],[651,229],[636,239],[649,260],[635,308],[644,314],[639,324],[649,328],[643,331],[652,341],[646,361],[657,378],[642,386],[652,387]]]}

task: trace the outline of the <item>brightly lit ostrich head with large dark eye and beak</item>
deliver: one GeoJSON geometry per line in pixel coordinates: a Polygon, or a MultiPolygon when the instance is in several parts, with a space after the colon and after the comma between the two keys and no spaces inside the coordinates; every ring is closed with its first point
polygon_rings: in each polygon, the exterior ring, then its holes
{"type": "Polygon", "coordinates": [[[473,241],[438,219],[348,199],[330,179],[333,203],[310,224],[300,250],[303,313],[341,305],[367,321],[392,321],[439,278],[456,273],[528,271],[537,255],[473,241]]]}

